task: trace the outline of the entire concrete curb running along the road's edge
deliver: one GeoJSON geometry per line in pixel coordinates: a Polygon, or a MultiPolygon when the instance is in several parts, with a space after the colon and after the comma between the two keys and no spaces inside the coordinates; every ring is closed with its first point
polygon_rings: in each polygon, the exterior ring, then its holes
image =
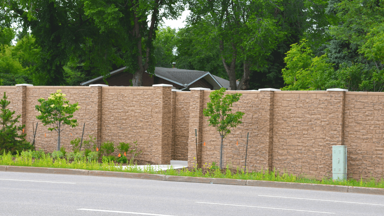
{"type": "Polygon", "coordinates": [[[282,181],[259,181],[259,180],[243,180],[228,178],[203,178],[192,176],[166,176],[162,174],[148,173],[126,173],[114,171],[84,170],[84,169],[64,169],[64,168],[47,168],[47,167],[30,167],[30,166],[0,166],[0,171],[22,172],[22,173],[48,173],[48,174],[68,174],[68,175],[88,175],[88,176],[104,176],[117,178],[136,178],[147,180],[161,181],[180,181],[192,183],[210,183],[210,184],[230,184],[243,186],[257,186],[269,188],[287,188],[287,189],[303,189],[316,191],[332,191],[344,193],[363,193],[384,195],[384,188],[364,188],[331,184],[307,184],[282,181]]]}

